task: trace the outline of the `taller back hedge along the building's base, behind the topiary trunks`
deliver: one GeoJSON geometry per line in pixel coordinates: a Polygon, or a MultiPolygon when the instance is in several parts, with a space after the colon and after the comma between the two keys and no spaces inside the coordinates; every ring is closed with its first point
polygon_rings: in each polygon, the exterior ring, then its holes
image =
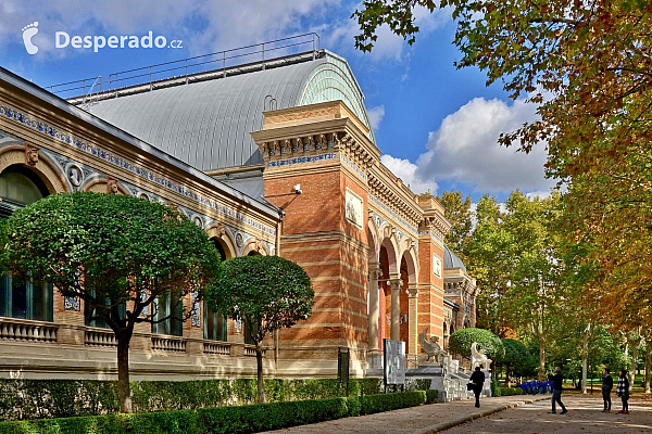
{"type": "MultiPolygon", "coordinates": [[[[349,395],[383,392],[381,379],[351,379],[349,395]]],[[[415,384],[414,387],[418,387],[415,384]]],[[[336,379],[264,380],[268,403],[337,397],[336,379]]],[[[255,404],[255,379],[131,382],[135,412],[255,404]]],[[[102,416],[120,411],[117,383],[97,380],[0,380],[0,420],[102,416]]]]}

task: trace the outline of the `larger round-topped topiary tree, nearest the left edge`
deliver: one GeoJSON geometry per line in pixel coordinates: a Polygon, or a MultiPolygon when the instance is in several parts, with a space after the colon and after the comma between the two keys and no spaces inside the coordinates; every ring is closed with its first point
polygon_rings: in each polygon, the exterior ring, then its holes
{"type": "Polygon", "coordinates": [[[100,193],[55,194],[16,210],[3,225],[2,264],[84,301],[87,319],[115,333],[121,411],[131,412],[129,342],[140,322],[180,320],[192,309],[158,308],[159,297],[183,304],[220,271],[205,232],[178,209],[100,193]],[[174,314],[177,311],[177,314],[174,314]]]}

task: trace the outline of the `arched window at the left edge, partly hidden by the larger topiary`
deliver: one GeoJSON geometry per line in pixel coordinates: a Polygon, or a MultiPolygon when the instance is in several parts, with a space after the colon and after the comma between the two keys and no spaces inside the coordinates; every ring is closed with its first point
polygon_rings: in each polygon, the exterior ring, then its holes
{"type": "MultiPolygon", "coordinates": [[[[0,218],[49,194],[40,178],[22,165],[0,174],[0,218]]],[[[27,277],[0,277],[0,317],[52,321],[52,285],[27,277]]]]}

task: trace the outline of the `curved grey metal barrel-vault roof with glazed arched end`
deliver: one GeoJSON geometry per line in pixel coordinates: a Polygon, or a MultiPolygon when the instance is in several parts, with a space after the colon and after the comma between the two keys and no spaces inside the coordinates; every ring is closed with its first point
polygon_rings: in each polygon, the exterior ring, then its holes
{"type": "Polygon", "coordinates": [[[84,107],[204,171],[263,163],[250,132],[262,129],[271,99],[272,108],[342,100],[372,129],[353,73],[331,52],[303,52],[229,71],[111,90],[84,107]]]}

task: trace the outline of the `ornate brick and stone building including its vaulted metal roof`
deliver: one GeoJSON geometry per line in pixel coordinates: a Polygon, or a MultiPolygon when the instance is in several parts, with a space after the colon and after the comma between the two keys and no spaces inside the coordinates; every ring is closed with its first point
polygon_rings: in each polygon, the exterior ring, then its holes
{"type": "MultiPolygon", "coordinates": [[[[443,243],[443,207],[379,157],[355,77],[326,50],[90,99],[0,68],[2,217],[48,194],[131,194],[178,207],[224,259],[280,255],[306,270],[313,314],[266,340],[269,376],[335,375],[340,347],[363,376],[384,337],[418,354],[424,328],[446,340],[475,324],[475,280],[443,243]]],[[[83,301],[11,275],[1,283],[0,375],[115,376],[112,332],[83,301]]],[[[137,328],[136,380],[255,374],[242,324],[204,306],[137,328]]]]}

